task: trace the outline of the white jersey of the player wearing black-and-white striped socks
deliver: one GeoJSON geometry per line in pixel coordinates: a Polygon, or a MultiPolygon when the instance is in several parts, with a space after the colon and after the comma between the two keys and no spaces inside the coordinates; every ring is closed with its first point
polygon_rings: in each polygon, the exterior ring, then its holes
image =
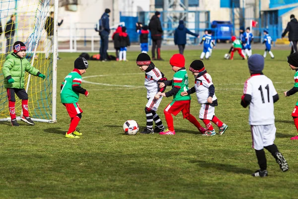
{"type": "Polygon", "coordinates": [[[161,72],[158,68],[154,67],[149,72],[145,73],[145,87],[147,89],[147,98],[154,97],[158,92],[158,80],[162,78],[161,72]]]}

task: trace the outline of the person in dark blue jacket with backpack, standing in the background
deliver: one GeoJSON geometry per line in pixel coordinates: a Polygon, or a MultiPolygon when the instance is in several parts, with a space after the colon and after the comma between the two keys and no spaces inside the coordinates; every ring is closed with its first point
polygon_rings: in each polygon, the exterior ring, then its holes
{"type": "Polygon", "coordinates": [[[105,62],[108,60],[108,53],[107,50],[109,48],[109,34],[111,32],[110,30],[110,20],[109,20],[109,13],[111,10],[109,8],[106,8],[104,13],[102,14],[100,20],[101,20],[101,26],[102,26],[102,31],[99,32],[100,35],[100,49],[99,49],[99,54],[100,54],[100,60],[105,62]]]}

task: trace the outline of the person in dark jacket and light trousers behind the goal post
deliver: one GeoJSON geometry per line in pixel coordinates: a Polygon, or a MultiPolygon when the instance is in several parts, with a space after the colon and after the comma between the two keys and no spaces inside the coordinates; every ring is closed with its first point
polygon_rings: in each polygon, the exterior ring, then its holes
{"type": "MultiPolygon", "coordinates": [[[[58,26],[61,26],[63,23],[63,19],[58,23],[58,26]]],[[[48,16],[45,24],[45,29],[47,31],[47,43],[46,45],[46,54],[45,54],[45,59],[49,59],[49,54],[50,52],[54,52],[54,12],[50,12],[50,16],[48,16]]],[[[60,60],[61,58],[59,57],[58,51],[57,51],[57,60],[60,60]]]]}

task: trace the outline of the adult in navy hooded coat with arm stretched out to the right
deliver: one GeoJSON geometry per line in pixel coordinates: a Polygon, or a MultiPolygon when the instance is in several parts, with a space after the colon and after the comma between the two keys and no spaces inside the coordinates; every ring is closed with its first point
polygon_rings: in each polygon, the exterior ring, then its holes
{"type": "Polygon", "coordinates": [[[200,37],[199,34],[189,31],[189,29],[187,29],[184,26],[183,20],[180,20],[178,27],[175,29],[174,42],[175,42],[175,45],[178,45],[179,53],[181,55],[183,55],[185,44],[186,44],[186,34],[191,34],[198,38],[200,37]]]}

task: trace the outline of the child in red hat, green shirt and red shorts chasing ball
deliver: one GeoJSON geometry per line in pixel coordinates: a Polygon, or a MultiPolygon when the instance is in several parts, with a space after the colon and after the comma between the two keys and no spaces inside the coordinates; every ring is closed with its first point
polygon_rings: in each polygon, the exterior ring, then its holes
{"type": "Polygon", "coordinates": [[[191,97],[180,95],[183,91],[188,90],[188,76],[184,67],[184,56],[181,54],[174,54],[170,59],[170,65],[172,66],[172,70],[175,72],[173,80],[160,83],[159,88],[171,85],[172,90],[159,95],[167,98],[173,96],[174,99],[163,110],[168,129],[160,132],[159,134],[175,135],[173,117],[171,114],[176,116],[180,111],[183,114],[183,118],[186,118],[193,123],[201,133],[205,133],[206,129],[201,126],[193,115],[190,114],[191,97]]]}

